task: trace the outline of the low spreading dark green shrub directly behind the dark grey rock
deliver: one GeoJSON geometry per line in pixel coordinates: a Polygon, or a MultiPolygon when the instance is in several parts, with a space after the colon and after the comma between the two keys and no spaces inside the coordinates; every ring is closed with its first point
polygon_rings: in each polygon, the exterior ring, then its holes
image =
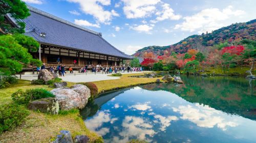
{"type": "Polygon", "coordinates": [[[28,89],[25,92],[21,89],[12,93],[12,100],[18,104],[27,104],[33,100],[54,97],[54,95],[44,88],[28,89]]]}

